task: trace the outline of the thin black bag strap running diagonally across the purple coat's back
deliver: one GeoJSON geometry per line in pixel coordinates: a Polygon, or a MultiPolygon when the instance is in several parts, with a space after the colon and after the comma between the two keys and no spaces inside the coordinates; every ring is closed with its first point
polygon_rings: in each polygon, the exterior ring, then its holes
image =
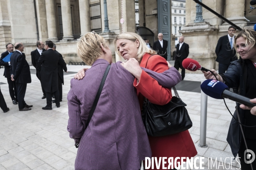
{"type": "Polygon", "coordinates": [[[104,83],[105,83],[105,80],[106,80],[106,78],[107,78],[107,76],[108,76],[108,71],[110,70],[110,67],[111,67],[111,65],[108,65],[108,67],[107,67],[107,69],[106,69],[106,71],[105,71],[105,73],[104,73],[104,76],[103,76],[103,78],[102,78],[102,82],[101,82],[100,85],[99,85],[99,90],[98,90],[98,92],[97,92],[97,94],[96,94],[96,97],[95,97],[95,99],[94,99],[93,107],[92,107],[91,110],[90,110],[90,113],[89,113],[89,116],[88,116],[88,119],[87,119],[87,122],[86,122],[86,125],[85,125],[85,129],[86,129],[87,126],[89,125],[90,119],[92,118],[93,112],[95,111],[95,108],[96,108],[96,106],[97,106],[97,104],[98,104],[99,96],[100,96],[100,94],[101,94],[101,92],[102,92],[102,88],[103,88],[104,83]]]}

